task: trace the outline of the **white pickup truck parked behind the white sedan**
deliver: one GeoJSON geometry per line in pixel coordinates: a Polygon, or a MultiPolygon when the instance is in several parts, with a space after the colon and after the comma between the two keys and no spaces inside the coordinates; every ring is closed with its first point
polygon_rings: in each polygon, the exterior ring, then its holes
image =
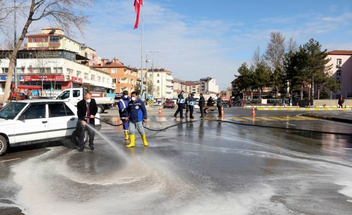
{"type": "MultiPolygon", "coordinates": [[[[101,97],[101,93],[91,92],[91,94],[97,103],[98,113],[104,113],[104,110],[110,109],[114,104],[114,98],[101,97]]],[[[83,99],[83,96],[83,88],[68,88],[63,90],[55,99],[69,101],[74,106],[77,106],[77,103],[83,99]]]]}

